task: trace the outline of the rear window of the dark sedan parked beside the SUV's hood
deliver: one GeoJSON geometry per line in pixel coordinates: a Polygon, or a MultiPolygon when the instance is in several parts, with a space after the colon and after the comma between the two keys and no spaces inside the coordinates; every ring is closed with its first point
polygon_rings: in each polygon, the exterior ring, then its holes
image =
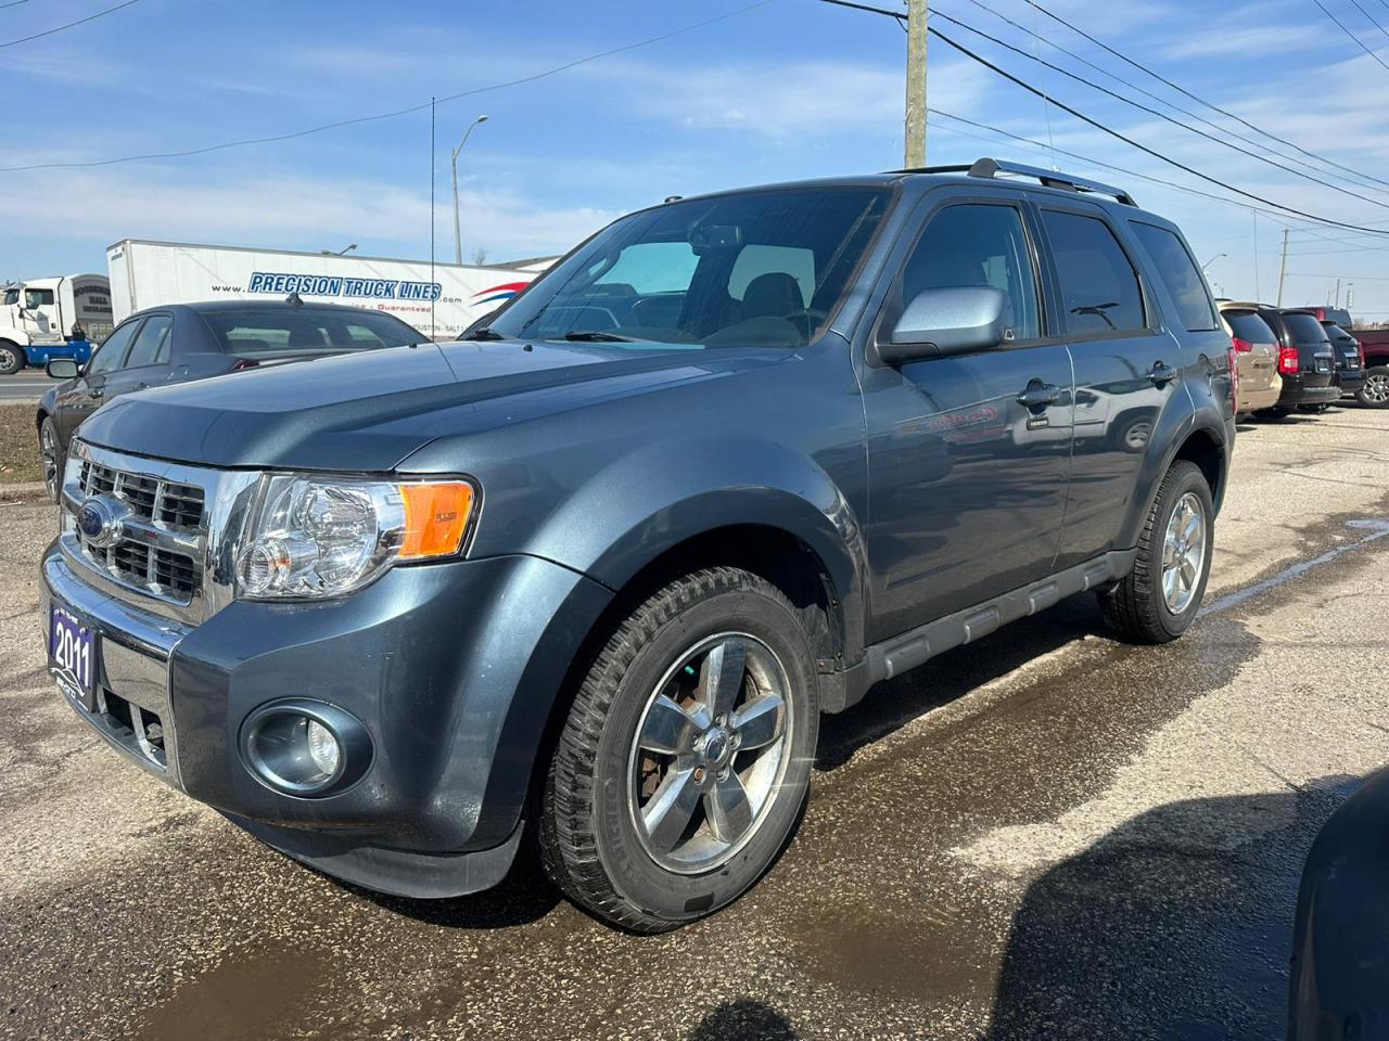
{"type": "Polygon", "coordinates": [[[428,337],[399,318],[374,311],[339,311],[336,308],[247,308],[244,311],[204,311],[213,336],[222,350],[238,358],[281,354],[368,351],[378,347],[404,347],[428,337]]]}

